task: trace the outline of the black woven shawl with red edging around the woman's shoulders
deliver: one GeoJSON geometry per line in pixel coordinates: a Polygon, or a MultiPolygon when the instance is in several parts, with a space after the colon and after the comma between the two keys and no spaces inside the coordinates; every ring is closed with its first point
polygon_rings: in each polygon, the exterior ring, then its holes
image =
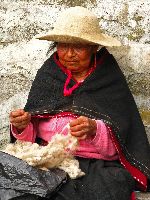
{"type": "MultiPolygon", "coordinates": [[[[54,53],[38,70],[25,110],[32,115],[69,111],[102,119],[110,127],[121,163],[145,185],[145,177],[150,178],[150,146],[137,106],[114,57],[102,48],[96,59],[95,71],[72,95],[64,96],[67,74],[54,53]]],[[[74,84],[71,80],[69,87],[74,84]]]]}

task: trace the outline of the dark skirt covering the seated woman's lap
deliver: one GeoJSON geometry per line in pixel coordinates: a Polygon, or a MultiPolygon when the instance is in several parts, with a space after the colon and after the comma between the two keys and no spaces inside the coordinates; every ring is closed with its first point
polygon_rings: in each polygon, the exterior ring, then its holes
{"type": "Polygon", "coordinates": [[[68,179],[50,200],[130,199],[134,179],[118,162],[79,158],[79,163],[86,175],[75,180],[68,179]]]}

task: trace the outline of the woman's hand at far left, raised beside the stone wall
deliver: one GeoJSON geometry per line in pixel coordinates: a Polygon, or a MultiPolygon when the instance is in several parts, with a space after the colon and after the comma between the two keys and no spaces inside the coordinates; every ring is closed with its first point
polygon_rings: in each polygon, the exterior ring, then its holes
{"type": "Polygon", "coordinates": [[[10,123],[18,130],[23,131],[31,120],[31,114],[23,109],[12,111],[9,115],[10,123]]]}

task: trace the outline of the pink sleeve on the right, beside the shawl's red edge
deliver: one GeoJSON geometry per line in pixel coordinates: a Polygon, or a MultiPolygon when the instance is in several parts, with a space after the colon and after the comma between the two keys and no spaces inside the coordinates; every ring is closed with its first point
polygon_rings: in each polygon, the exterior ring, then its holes
{"type": "Polygon", "coordinates": [[[97,151],[104,157],[113,157],[117,154],[117,151],[111,140],[108,128],[102,120],[96,120],[96,123],[96,135],[92,138],[90,143],[93,144],[97,151]]]}

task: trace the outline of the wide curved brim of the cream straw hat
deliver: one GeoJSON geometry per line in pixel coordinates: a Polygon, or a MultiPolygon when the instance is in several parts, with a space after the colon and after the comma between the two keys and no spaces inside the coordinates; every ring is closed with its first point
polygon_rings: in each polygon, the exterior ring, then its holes
{"type": "Polygon", "coordinates": [[[91,45],[102,45],[102,46],[121,46],[121,42],[116,38],[108,36],[106,34],[100,33],[95,36],[74,36],[70,34],[58,34],[55,32],[48,33],[47,35],[38,35],[35,37],[39,40],[47,40],[54,42],[62,42],[62,43],[83,43],[83,44],[91,44],[91,45]]]}

